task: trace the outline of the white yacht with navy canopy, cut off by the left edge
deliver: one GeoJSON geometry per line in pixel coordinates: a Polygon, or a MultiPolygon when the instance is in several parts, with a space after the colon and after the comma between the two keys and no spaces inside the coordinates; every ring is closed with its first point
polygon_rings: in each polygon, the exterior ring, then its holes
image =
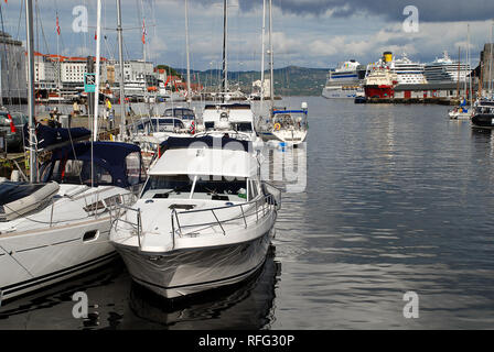
{"type": "Polygon", "coordinates": [[[109,210],[137,200],[140,150],[95,142],[92,152],[90,145],[53,151],[40,184],[0,183],[0,302],[115,257],[109,210]]]}

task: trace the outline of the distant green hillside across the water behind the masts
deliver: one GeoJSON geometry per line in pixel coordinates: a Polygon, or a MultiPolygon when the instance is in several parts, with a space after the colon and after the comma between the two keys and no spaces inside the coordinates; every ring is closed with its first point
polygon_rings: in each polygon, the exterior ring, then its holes
{"type": "MultiPolygon", "coordinates": [[[[175,69],[186,76],[183,68],[175,69]]],[[[288,66],[275,69],[275,94],[277,96],[320,96],[326,81],[327,69],[288,66]]],[[[221,70],[208,69],[204,72],[191,72],[191,80],[201,82],[207,90],[216,90],[221,85],[221,70]]],[[[269,72],[266,72],[269,78],[269,72]]],[[[260,72],[230,72],[228,82],[230,87],[240,86],[240,89],[249,94],[253,81],[260,79],[260,72]]]]}

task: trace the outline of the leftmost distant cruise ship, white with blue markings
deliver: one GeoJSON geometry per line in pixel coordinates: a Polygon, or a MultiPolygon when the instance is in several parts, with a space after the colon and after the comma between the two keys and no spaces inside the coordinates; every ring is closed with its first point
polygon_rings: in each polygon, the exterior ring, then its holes
{"type": "Polygon", "coordinates": [[[327,99],[354,99],[357,94],[363,92],[361,81],[364,78],[365,66],[358,62],[351,59],[340,63],[336,68],[330,70],[322,96],[327,99]]]}

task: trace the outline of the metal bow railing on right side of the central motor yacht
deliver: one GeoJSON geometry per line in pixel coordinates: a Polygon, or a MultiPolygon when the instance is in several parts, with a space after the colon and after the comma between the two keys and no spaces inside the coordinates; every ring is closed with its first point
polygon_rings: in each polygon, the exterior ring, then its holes
{"type": "MultiPolygon", "coordinates": [[[[273,186],[271,186],[273,187],[273,186]]],[[[275,188],[275,187],[273,187],[275,188]]],[[[275,188],[277,189],[277,188],[275,188]]],[[[278,190],[278,189],[277,189],[278,190]]],[[[281,195],[281,191],[280,191],[281,195]]],[[[267,194],[264,197],[260,197],[256,200],[248,201],[245,204],[225,206],[225,207],[216,207],[216,208],[207,208],[207,209],[197,209],[197,210],[186,210],[186,211],[176,211],[176,209],[172,210],[171,213],[171,223],[172,223],[172,238],[174,242],[174,234],[179,234],[179,237],[194,235],[200,231],[204,231],[206,229],[212,229],[214,227],[219,227],[223,235],[226,235],[226,226],[232,222],[243,223],[244,228],[247,229],[249,224],[257,224],[259,220],[262,220],[265,217],[271,215],[272,211],[277,211],[280,208],[281,197],[277,197],[273,194],[267,194]],[[232,212],[233,209],[239,209],[233,217],[228,217],[227,219],[221,219],[222,212],[228,210],[232,212]],[[203,218],[201,215],[211,213],[214,218],[214,221],[208,222],[198,222],[198,223],[190,223],[182,224],[181,218],[183,219],[186,216],[194,216],[194,218],[203,218]],[[189,231],[190,229],[190,231],[189,231]]],[[[174,243],[173,243],[174,246],[174,243]]]]}

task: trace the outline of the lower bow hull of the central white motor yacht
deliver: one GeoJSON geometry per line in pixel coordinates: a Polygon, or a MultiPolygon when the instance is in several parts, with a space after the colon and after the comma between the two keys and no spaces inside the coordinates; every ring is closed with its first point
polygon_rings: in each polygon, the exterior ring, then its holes
{"type": "Polygon", "coordinates": [[[164,253],[116,248],[136,283],[165,298],[178,298],[233,285],[256,273],[265,262],[272,231],[249,242],[164,253]]]}

